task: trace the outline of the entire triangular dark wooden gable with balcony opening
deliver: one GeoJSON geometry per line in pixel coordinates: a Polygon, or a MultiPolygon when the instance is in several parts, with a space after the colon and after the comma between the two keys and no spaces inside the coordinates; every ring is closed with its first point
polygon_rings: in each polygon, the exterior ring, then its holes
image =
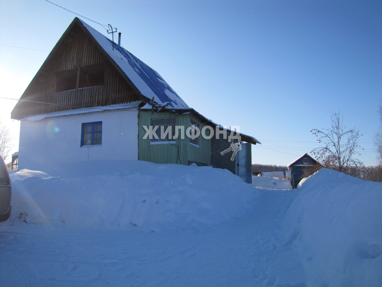
{"type": "Polygon", "coordinates": [[[12,119],[142,99],[76,19],[21,96],[12,119]]]}

